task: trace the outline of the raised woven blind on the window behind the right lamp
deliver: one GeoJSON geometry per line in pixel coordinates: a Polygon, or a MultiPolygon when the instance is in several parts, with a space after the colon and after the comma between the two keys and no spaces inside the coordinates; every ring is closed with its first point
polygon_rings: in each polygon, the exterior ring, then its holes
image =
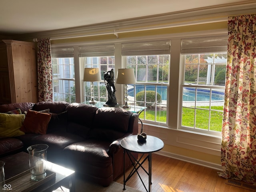
{"type": "Polygon", "coordinates": [[[122,56],[170,54],[170,40],[122,43],[122,56]]]}

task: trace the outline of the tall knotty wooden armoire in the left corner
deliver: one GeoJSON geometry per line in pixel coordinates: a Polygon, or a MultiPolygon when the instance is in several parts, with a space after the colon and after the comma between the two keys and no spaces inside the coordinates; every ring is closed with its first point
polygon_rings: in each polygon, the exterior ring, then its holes
{"type": "Polygon", "coordinates": [[[0,104],[38,102],[35,43],[0,41],[0,104]]]}

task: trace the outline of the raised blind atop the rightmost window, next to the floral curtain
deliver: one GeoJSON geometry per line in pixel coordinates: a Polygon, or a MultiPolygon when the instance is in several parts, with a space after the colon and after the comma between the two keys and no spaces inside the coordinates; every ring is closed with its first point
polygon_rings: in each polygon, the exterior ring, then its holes
{"type": "Polygon", "coordinates": [[[182,54],[227,52],[228,36],[182,39],[182,54]]]}

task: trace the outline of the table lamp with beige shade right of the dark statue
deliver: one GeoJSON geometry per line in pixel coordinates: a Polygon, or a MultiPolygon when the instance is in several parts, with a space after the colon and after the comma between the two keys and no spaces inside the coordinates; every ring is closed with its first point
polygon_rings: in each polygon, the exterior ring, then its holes
{"type": "Polygon", "coordinates": [[[123,106],[124,109],[130,108],[128,106],[128,92],[127,92],[127,84],[135,84],[135,75],[134,75],[134,69],[133,68],[125,68],[125,69],[118,69],[117,76],[116,76],[116,83],[117,84],[125,84],[124,88],[124,100],[125,104],[123,106]]]}

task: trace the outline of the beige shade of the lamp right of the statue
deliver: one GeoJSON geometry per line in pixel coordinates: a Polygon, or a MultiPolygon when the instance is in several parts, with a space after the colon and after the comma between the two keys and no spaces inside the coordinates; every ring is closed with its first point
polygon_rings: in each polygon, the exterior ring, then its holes
{"type": "Polygon", "coordinates": [[[135,75],[134,69],[118,69],[117,76],[116,76],[116,83],[117,84],[135,84],[135,75]]]}

